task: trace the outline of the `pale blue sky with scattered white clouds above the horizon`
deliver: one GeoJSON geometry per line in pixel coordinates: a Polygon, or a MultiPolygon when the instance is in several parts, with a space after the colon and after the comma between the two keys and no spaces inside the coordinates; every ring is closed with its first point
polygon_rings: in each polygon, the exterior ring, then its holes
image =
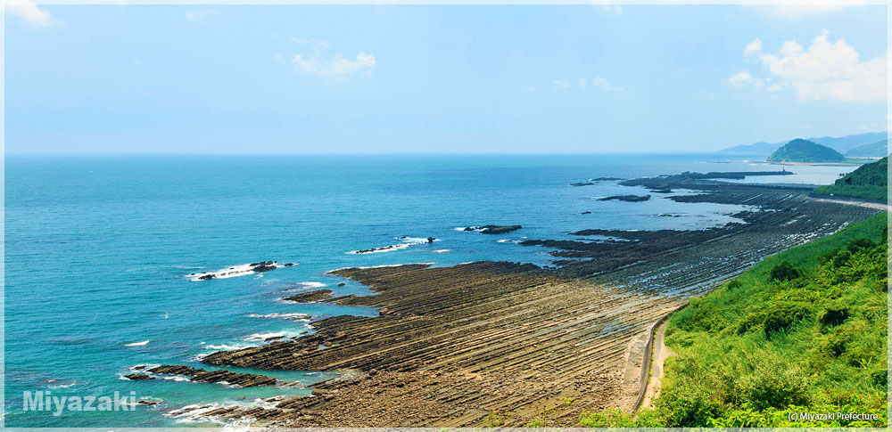
{"type": "Polygon", "coordinates": [[[5,152],[696,152],[886,130],[885,5],[7,6],[5,152]]]}

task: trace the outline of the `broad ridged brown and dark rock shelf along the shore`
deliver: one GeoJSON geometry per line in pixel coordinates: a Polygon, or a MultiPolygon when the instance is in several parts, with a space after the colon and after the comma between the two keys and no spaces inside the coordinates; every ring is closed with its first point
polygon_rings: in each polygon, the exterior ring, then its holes
{"type": "Polygon", "coordinates": [[[294,297],[377,307],[379,316],[326,318],[313,323],[314,334],[219,351],[202,363],[346,373],[314,386],[316,397],[221,414],[286,427],[484,426],[496,418],[524,426],[543,416],[549,426],[577,426],[580,412],[632,406],[641,341],[673,308],[768,255],[877,213],[809,200],[801,188],[694,174],[623,184],[698,192],[667,197],[678,202],[750,206],[734,215],[743,223],[699,231],[593,227],[571,234],[607,240],[520,243],[554,249],[553,269],[483,261],[331,272],[376,295],[331,298],[324,289],[294,297]]]}

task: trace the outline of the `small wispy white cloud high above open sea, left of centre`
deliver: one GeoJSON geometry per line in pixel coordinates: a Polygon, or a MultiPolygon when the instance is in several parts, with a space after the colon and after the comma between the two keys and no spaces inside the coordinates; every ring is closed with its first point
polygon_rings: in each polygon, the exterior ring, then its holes
{"type": "Polygon", "coordinates": [[[343,57],[340,53],[326,55],[329,43],[327,41],[315,41],[306,38],[291,38],[293,42],[301,45],[310,45],[309,54],[296,54],[292,58],[294,70],[319,77],[330,77],[343,80],[350,75],[362,71],[371,70],[377,64],[375,56],[369,53],[357,53],[352,59],[343,57]]]}

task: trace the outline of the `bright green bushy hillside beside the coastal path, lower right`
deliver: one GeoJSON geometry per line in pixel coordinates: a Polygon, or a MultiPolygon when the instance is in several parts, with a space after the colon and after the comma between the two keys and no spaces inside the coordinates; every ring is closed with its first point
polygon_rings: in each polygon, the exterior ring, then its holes
{"type": "Polygon", "coordinates": [[[887,222],[768,257],[673,314],[663,390],[590,427],[880,427],[887,416],[887,222]],[[879,420],[790,420],[800,412],[879,420]]]}

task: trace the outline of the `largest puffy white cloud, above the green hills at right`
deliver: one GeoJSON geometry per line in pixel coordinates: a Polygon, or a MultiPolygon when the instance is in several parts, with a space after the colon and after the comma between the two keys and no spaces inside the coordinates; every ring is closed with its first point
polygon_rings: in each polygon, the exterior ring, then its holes
{"type": "MultiPolygon", "coordinates": [[[[789,88],[803,101],[884,101],[888,55],[861,61],[845,39],[830,42],[827,34],[824,30],[807,49],[796,41],[784,42],[777,53],[758,56],[767,76],[754,77],[743,70],[728,78],[728,83],[736,87],[768,86],[772,92],[789,88]]],[[[761,50],[750,55],[757,53],[761,50]]]]}

